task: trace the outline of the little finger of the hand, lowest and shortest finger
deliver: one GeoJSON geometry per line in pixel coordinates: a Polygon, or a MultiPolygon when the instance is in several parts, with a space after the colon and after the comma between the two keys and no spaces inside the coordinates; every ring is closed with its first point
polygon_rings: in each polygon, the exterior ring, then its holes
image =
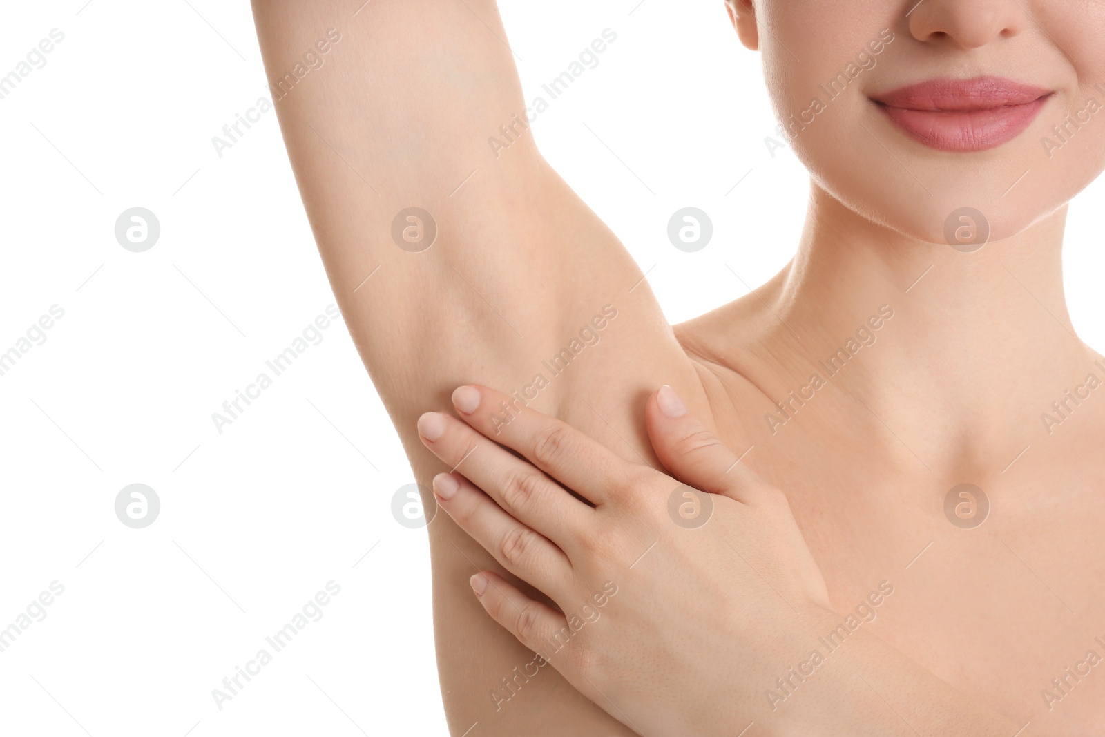
{"type": "MultiPolygon", "coordinates": [[[[546,661],[554,656],[557,635],[568,629],[568,620],[564,614],[548,604],[530,599],[502,576],[491,571],[476,573],[469,582],[493,620],[546,661]]],[[[560,665],[558,661],[557,670],[560,670],[560,665]]]]}

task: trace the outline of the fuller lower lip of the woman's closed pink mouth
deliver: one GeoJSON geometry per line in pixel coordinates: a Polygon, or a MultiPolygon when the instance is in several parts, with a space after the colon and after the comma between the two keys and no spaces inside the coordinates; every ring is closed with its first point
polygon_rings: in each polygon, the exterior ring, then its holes
{"type": "Polygon", "coordinates": [[[914,140],[938,151],[985,151],[1017,138],[1032,125],[1050,95],[1023,105],[977,110],[917,110],[876,103],[914,140]]]}

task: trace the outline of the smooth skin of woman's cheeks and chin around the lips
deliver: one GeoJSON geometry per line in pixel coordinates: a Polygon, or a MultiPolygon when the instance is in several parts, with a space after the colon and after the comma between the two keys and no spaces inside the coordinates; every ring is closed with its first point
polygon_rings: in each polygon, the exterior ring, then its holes
{"type": "Polygon", "coordinates": [[[794,154],[849,209],[944,243],[954,213],[972,208],[986,219],[990,240],[999,240],[1060,208],[1105,168],[1105,3],[1035,7],[1030,31],[977,50],[987,73],[1056,93],[1028,130],[974,154],[937,151],[907,138],[867,97],[925,76],[954,76],[956,52],[914,39],[896,6],[841,4],[846,9],[767,0],[761,27],[771,31],[761,30],[761,53],[772,106],[794,154]],[[893,41],[872,53],[870,43],[887,30],[893,41]],[[861,64],[864,53],[873,67],[861,64]]]}

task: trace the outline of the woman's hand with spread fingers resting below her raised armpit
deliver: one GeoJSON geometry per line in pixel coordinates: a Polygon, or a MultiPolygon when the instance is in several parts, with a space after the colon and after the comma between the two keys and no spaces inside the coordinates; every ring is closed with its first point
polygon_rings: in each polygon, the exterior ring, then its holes
{"type": "Polygon", "coordinates": [[[434,477],[440,506],[559,608],[483,571],[472,587],[486,611],[639,734],[739,733],[830,611],[783,494],[666,387],[645,414],[677,478],[532,409],[504,415],[504,401],[461,387],[463,422],[419,419],[459,472],[434,477]]]}

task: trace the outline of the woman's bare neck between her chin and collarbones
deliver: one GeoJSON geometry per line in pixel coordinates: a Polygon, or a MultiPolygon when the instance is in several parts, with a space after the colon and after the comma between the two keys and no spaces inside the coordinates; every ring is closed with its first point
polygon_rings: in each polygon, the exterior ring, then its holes
{"type": "Polygon", "coordinates": [[[830,381],[859,400],[865,420],[853,428],[903,463],[1000,471],[1046,436],[1053,402],[1073,407],[1065,392],[1091,372],[1105,380],[1066,310],[1065,215],[960,253],[876,225],[813,185],[798,255],[760,292],[779,318],[768,340],[796,376],[845,365],[830,381]],[[850,339],[855,352],[830,361],[850,339]]]}

